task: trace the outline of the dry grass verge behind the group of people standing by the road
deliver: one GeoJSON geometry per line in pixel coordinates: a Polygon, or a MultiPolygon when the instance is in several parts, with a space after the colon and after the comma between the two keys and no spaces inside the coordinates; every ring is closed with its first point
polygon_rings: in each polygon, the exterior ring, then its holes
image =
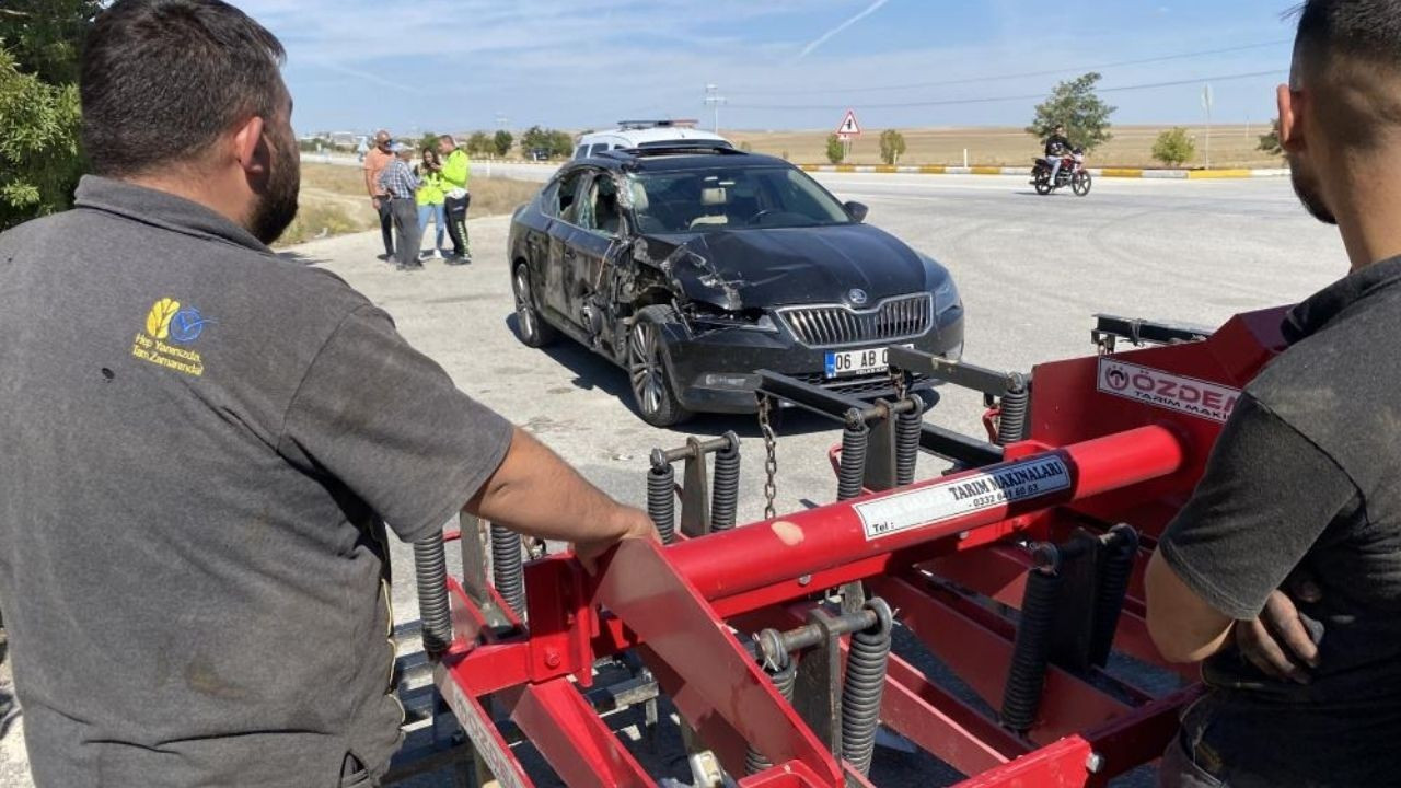
{"type": "MultiPolygon", "coordinates": [[[[468,219],[510,213],[539,191],[539,184],[511,178],[472,178],[471,186],[472,206],[468,219]]],[[[380,217],[366,196],[364,175],[359,167],[303,164],[298,203],[297,219],[273,245],[290,247],[380,226],[380,217]]]]}

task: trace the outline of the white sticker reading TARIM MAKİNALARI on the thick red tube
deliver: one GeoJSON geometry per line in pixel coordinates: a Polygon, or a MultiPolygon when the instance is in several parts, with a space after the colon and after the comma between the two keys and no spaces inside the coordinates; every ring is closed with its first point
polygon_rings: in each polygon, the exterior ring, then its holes
{"type": "Polygon", "coordinates": [[[1069,488],[1070,470],[1061,457],[1037,457],[998,471],[887,495],[852,509],[860,516],[869,541],[1069,488]]]}

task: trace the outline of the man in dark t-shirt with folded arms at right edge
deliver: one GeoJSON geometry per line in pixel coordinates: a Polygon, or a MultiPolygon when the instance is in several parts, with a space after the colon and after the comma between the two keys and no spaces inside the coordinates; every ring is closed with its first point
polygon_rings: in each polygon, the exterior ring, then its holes
{"type": "Polygon", "coordinates": [[[1401,0],[1304,4],[1281,143],[1352,272],[1290,311],[1149,564],[1203,659],[1166,787],[1401,785],[1401,0]]]}

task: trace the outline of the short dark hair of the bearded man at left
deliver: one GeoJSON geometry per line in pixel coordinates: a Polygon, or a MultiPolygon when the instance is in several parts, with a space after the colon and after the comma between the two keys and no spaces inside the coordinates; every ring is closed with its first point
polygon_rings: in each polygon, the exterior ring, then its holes
{"type": "Polygon", "coordinates": [[[283,98],[282,43],[220,0],[118,0],[83,50],[83,146],[99,175],[192,158],[283,98]]]}

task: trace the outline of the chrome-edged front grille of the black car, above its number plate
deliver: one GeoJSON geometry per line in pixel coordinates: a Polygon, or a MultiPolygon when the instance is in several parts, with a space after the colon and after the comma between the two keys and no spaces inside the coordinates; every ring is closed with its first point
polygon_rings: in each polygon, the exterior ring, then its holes
{"type": "Polygon", "coordinates": [[[933,299],[929,293],[918,293],[885,299],[869,310],[822,304],[785,307],[778,313],[799,342],[810,348],[835,348],[919,337],[933,322],[933,299]]]}

